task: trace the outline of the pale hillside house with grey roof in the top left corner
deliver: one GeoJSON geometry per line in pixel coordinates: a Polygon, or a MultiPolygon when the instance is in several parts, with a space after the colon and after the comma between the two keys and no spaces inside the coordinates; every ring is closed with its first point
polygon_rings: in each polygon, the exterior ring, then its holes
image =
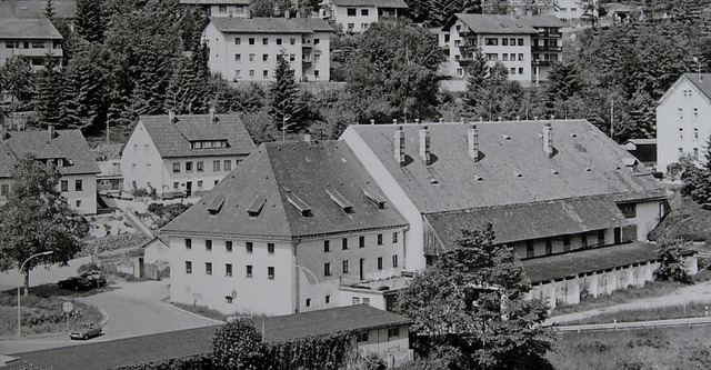
{"type": "Polygon", "coordinates": [[[27,57],[34,69],[43,68],[47,58],[61,61],[62,36],[47,18],[0,17],[0,67],[12,57],[27,57]]]}

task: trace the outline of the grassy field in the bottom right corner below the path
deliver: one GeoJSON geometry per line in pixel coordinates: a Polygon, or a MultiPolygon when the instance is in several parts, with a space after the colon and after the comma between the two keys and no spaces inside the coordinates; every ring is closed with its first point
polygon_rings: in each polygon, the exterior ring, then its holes
{"type": "Polygon", "coordinates": [[[557,370],[711,369],[711,326],[559,334],[557,370]]]}

